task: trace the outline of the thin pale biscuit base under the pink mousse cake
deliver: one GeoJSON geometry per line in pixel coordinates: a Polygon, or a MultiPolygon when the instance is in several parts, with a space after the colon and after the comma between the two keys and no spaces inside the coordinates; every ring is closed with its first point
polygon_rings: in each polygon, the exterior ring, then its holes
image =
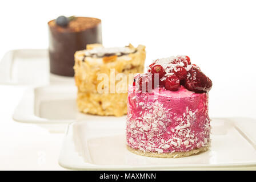
{"type": "Polygon", "coordinates": [[[184,157],[187,157],[190,155],[195,155],[200,152],[205,152],[205,151],[209,150],[210,144],[208,144],[207,146],[204,146],[204,147],[200,147],[197,149],[187,151],[187,152],[173,152],[173,153],[171,153],[171,152],[169,152],[169,153],[143,152],[141,150],[134,149],[129,146],[126,146],[126,147],[130,152],[133,152],[134,154],[148,156],[151,158],[184,158],[184,157]]]}

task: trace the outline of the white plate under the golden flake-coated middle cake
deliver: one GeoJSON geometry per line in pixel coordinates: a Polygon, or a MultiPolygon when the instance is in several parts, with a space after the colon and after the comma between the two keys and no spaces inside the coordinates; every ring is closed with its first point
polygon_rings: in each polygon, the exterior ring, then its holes
{"type": "Polygon", "coordinates": [[[125,117],[102,117],[78,111],[74,85],[49,85],[26,90],[14,110],[17,122],[39,124],[51,132],[65,132],[67,123],[75,121],[122,121],[125,117]]]}

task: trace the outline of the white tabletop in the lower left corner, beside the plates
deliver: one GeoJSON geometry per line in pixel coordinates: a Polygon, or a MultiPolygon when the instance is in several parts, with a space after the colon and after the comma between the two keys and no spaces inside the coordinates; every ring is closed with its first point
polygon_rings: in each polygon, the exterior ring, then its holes
{"type": "Polygon", "coordinates": [[[62,170],[58,156],[64,135],[11,119],[25,90],[0,85],[0,170],[62,170]]]}

